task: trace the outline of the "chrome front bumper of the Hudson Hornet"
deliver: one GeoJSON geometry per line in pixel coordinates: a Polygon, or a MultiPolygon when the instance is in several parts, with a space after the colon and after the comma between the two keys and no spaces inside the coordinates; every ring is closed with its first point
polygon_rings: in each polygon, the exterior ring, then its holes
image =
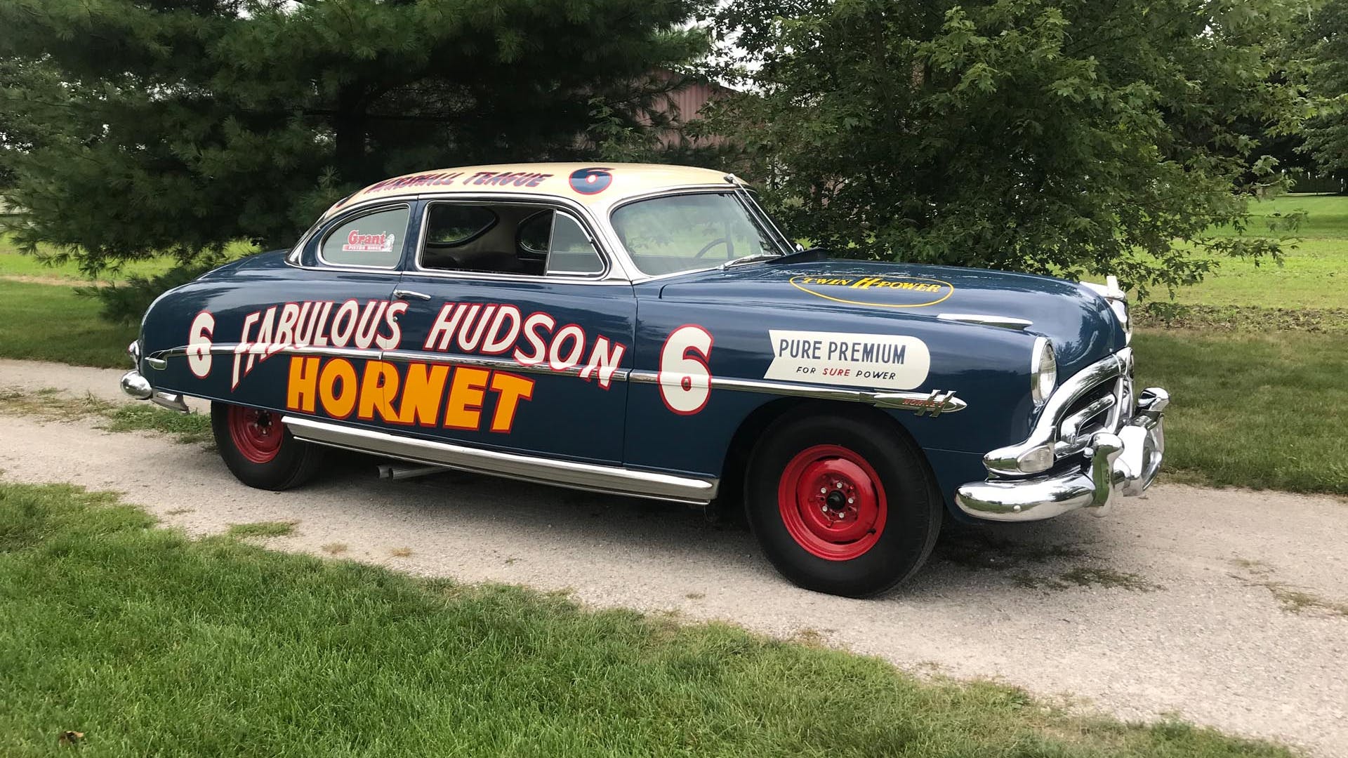
{"type": "Polygon", "coordinates": [[[1078,471],[971,482],[954,491],[954,503],[987,521],[1038,521],[1077,508],[1104,515],[1116,498],[1140,495],[1155,482],[1166,449],[1163,414],[1169,403],[1165,390],[1143,390],[1136,413],[1117,433],[1091,436],[1086,463],[1078,471]]]}

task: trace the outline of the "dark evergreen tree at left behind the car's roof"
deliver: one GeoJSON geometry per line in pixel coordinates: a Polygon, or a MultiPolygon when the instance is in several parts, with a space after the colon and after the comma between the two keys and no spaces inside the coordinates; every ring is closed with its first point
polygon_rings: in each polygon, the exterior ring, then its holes
{"type": "Polygon", "coordinates": [[[427,166],[585,155],[706,47],[702,0],[4,0],[20,244],[88,271],[237,239],[427,166]],[[32,139],[39,135],[40,139],[32,139]]]}

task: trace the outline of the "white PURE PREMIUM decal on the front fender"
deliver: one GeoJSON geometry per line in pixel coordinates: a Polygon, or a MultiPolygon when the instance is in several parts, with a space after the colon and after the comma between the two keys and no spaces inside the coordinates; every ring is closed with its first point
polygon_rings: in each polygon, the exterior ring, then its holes
{"type": "Polygon", "coordinates": [[[899,334],[768,329],[772,363],[764,379],[913,390],[926,382],[926,343],[899,334]]]}

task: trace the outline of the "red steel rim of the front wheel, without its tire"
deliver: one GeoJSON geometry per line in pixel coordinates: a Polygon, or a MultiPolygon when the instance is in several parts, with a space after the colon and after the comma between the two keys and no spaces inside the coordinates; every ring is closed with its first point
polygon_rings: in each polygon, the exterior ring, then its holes
{"type": "Polygon", "coordinates": [[[841,445],[797,453],[778,483],[782,523],[811,556],[849,561],[880,540],[888,504],[875,468],[841,445]]]}

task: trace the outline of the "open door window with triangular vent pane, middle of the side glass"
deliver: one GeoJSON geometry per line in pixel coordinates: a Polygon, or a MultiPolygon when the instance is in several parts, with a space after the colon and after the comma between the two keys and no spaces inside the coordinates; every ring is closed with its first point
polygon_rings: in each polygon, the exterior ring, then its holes
{"type": "Polygon", "coordinates": [[[421,267],[484,274],[592,275],[604,259],[568,213],[538,205],[435,202],[421,267]]]}

